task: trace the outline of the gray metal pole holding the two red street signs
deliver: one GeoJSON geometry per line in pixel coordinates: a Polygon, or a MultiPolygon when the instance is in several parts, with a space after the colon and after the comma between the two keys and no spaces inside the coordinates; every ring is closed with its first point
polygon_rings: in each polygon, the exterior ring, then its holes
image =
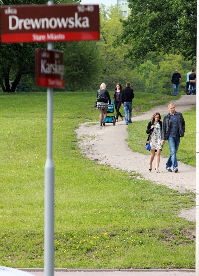
{"type": "MultiPolygon", "coordinates": [[[[49,1],[48,5],[53,5],[49,1]]],[[[48,43],[53,50],[53,43],[48,43]]],[[[54,164],[53,164],[53,88],[47,88],[47,159],[44,195],[44,275],[54,275],[54,164]]]]}

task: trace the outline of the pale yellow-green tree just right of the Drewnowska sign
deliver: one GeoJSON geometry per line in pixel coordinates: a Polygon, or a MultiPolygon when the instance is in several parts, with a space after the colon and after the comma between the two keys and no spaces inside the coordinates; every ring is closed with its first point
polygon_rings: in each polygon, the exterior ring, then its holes
{"type": "Polygon", "coordinates": [[[129,48],[127,45],[114,48],[113,41],[117,35],[122,32],[122,24],[120,20],[123,18],[120,7],[111,5],[106,8],[105,5],[100,7],[100,40],[99,45],[101,71],[98,83],[104,82],[108,90],[114,90],[115,84],[120,82],[123,86],[127,81],[137,82],[132,75],[132,62],[124,57],[125,52],[129,48]]]}

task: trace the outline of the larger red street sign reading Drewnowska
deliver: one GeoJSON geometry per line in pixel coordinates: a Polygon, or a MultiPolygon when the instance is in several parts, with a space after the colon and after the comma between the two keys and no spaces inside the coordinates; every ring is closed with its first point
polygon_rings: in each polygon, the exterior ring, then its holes
{"type": "Polygon", "coordinates": [[[1,6],[1,42],[99,40],[98,5],[1,6]]]}

